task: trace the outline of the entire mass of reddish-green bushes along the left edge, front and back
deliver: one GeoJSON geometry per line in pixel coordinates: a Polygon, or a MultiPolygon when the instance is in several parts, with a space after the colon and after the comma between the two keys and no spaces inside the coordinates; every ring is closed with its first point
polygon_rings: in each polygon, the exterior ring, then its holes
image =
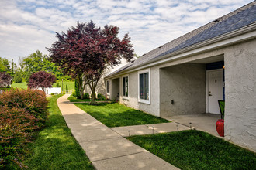
{"type": "Polygon", "coordinates": [[[24,168],[21,155],[45,126],[48,100],[40,90],[11,89],[0,95],[0,168],[24,168]]]}

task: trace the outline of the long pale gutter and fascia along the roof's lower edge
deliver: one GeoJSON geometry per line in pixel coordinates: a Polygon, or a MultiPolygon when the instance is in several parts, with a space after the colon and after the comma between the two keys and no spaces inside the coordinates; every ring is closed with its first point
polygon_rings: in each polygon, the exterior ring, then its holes
{"type": "Polygon", "coordinates": [[[161,56],[159,58],[150,60],[147,63],[144,63],[143,65],[134,66],[130,69],[121,71],[117,74],[106,76],[105,79],[115,78],[126,73],[142,70],[151,66],[161,65],[162,63],[168,63],[176,59],[182,59],[187,56],[192,56],[193,54],[202,53],[210,49],[229,46],[230,44],[244,41],[246,39],[253,39],[255,37],[256,37],[256,22],[252,23],[251,25],[244,26],[241,29],[237,29],[233,32],[228,32],[227,34],[216,36],[213,39],[208,39],[206,41],[199,42],[192,46],[188,46],[184,49],[179,49],[178,51],[169,53],[165,56],[161,56]]]}

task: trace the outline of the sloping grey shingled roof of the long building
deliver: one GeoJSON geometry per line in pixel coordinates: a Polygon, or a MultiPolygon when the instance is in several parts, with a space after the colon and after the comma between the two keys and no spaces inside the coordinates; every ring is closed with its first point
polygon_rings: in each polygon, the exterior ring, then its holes
{"type": "Polygon", "coordinates": [[[256,22],[256,1],[244,5],[234,12],[230,12],[192,32],[186,33],[184,36],[174,39],[157,49],[151,50],[143,56],[140,56],[140,58],[136,59],[133,63],[128,63],[126,66],[110,73],[106,77],[114,76],[115,74],[125,72],[126,70],[132,70],[138,66],[144,66],[147,63],[150,63],[150,61],[161,60],[164,56],[170,55],[178,50],[233,32],[254,22],[256,22]]]}

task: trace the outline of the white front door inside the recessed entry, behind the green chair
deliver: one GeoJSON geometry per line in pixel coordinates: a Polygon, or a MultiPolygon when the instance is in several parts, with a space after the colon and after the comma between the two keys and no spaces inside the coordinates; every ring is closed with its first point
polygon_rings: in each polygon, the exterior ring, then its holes
{"type": "Polygon", "coordinates": [[[223,100],[223,70],[209,70],[209,113],[220,114],[218,100],[223,100]]]}

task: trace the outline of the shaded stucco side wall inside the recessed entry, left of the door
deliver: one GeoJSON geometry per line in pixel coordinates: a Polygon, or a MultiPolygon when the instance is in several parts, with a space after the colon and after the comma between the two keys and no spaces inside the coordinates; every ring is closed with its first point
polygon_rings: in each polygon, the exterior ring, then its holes
{"type": "Polygon", "coordinates": [[[205,64],[185,63],[161,69],[160,115],[202,113],[206,113],[205,64]]]}

